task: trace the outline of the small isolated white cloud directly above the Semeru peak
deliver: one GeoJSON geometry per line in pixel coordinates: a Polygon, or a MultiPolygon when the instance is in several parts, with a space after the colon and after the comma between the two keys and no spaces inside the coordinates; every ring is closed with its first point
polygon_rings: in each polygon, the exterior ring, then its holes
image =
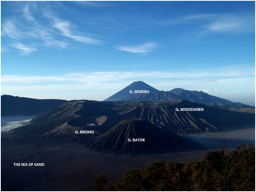
{"type": "Polygon", "coordinates": [[[142,53],[143,55],[146,55],[146,53],[150,53],[154,51],[154,49],[157,48],[156,43],[145,43],[139,46],[116,46],[115,49],[121,50],[121,51],[127,51],[131,53],[142,53]]]}

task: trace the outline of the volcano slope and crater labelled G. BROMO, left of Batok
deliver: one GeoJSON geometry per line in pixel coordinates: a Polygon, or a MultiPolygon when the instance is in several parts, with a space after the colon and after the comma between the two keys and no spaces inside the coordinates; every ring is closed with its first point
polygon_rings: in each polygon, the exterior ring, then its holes
{"type": "MultiPolygon", "coordinates": [[[[33,118],[29,123],[13,129],[18,135],[33,135],[33,139],[54,138],[83,140],[108,131],[108,118],[104,114],[116,114],[114,105],[107,105],[99,101],[77,101],[65,103],[33,118]],[[114,111],[111,112],[111,111],[114,111]],[[102,125],[105,123],[104,125],[102,125]],[[102,126],[100,126],[102,125],[102,126]],[[75,131],[94,131],[94,134],[80,136],[75,131]]],[[[114,126],[114,123],[108,125],[114,126]]]]}

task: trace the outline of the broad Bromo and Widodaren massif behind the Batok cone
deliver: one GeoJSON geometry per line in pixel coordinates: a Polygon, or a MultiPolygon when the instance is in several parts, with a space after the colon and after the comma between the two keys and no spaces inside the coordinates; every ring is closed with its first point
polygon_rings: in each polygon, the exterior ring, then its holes
{"type": "Polygon", "coordinates": [[[255,126],[254,114],[224,110],[187,100],[134,104],[129,102],[124,105],[80,101],[53,108],[13,132],[74,135],[75,130],[94,130],[96,134],[90,136],[95,136],[106,133],[125,119],[147,120],[169,133],[184,134],[255,126]],[[181,111],[181,108],[202,108],[203,111],[181,111]]]}

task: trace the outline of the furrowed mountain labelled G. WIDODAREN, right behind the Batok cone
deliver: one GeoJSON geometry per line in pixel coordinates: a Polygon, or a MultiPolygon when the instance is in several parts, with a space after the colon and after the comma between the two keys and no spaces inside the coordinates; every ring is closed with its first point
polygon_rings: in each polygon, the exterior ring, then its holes
{"type": "Polygon", "coordinates": [[[255,125],[254,114],[222,110],[187,100],[155,103],[123,112],[124,118],[148,120],[173,133],[200,133],[223,131],[255,125]],[[179,111],[176,111],[176,108],[179,111]],[[181,111],[181,108],[204,108],[204,111],[181,111]]]}

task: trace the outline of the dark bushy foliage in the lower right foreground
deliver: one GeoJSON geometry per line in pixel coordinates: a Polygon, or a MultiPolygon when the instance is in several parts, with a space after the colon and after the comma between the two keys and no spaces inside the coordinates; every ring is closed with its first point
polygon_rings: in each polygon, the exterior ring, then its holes
{"type": "MultiPolygon", "coordinates": [[[[97,176],[98,177],[98,176],[97,176]]],[[[105,178],[105,177],[104,177],[105,178]]],[[[105,181],[105,180],[104,180],[105,181]]],[[[181,164],[154,162],[132,170],[102,190],[115,191],[255,191],[255,147],[207,152],[204,160],[181,164]]]]}

